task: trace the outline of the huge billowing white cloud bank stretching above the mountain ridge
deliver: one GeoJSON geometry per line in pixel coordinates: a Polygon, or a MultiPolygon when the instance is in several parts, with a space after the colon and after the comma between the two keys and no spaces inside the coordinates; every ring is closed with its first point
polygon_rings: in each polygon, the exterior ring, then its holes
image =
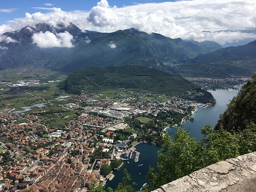
{"type": "MultiPolygon", "coordinates": [[[[107,0],[101,0],[89,12],[65,12],[60,8],[40,9],[50,12],[26,13],[26,17],[0,26],[0,33],[35,26],[37,23],[56,27],[57,24],[68,26],[72,22],[82,30],[114,32],[135,27],[146,33],[155,32],[171,38],[226,43],[248,36],[239,30],[256,28],[255,0],[192,0],[136,4],[121,8],[110,7],[107,0]],[[216,32],[220,30],[232,32],[216,32]]],[[[249,36],[256,39],[255,33],[249,36]]]]}

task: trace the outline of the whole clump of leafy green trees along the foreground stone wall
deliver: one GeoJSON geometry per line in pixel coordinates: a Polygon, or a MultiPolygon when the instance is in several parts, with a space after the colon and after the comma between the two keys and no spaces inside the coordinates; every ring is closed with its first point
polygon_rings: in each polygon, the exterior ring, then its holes
{"type": "Polygon", "coordinates": [[[199,142],[184,129],[175,133],[175,139],[164,134],[157,168],[149,168],[147,175],[150,189],[154,190],[221,160],[255,151],[255,132],[256,125],[251,123],[243,131],[232,133],[222,127],[213,130],[210,125],[205,125],[201,130],[204,139],[199,142]]]}

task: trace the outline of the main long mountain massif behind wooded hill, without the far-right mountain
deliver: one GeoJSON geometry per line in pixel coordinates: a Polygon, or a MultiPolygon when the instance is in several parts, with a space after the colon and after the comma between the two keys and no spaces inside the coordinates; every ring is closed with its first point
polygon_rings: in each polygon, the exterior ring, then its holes
{"type": "Polygon", "coordinates": [[[10,37],[13,41],[0,42],[1,70],[36,66],[69,73],[89,66],[127,64],[165,68],[164,64],[185,61],[221,48],[215,42],[185,42],[136,29],[118,30],[114,33],[82,32],[72,23],[67,27],[55,28],[37,24],[35,27],[24,27],[18,32],[4,33],[3,36],[10,37]],[[73,37],[73,46],[43,48],[35,43],[36,34],[58,37],[63,33],[69,33],[73,37]]]}

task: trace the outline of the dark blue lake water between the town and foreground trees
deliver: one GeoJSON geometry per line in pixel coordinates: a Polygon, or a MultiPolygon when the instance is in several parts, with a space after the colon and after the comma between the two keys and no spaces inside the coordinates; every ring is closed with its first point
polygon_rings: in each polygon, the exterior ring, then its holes
{"type": "MultiPolygon", "coordinates": [[[[241,88],[241,87],[239,87],[241,88]]],[[[182,128],[185,128],[190,132],[190,135],[196,139],[196,141],[202,139],[201,128],[205,125],[211,125],[214,127],[226,107],[227,103],[237,95],[238,90],[211,90],[216,99],[216,105],[210,106],[206,109],[199,108],[198,111],[193,115],[194,121],[188,121],[182,125],[182,128]]],[[[174,135],[176,128],[167,129],[168,134],[174,135]]],[[[139,161],[134,162],[130,160],[129,163],[124,162],[124,165],[119,171],[114,171],[115,177],[112,181],[108,181],[105,185],[106,187],[115,188],[118,183],[123,178],[123,169],[126,168],[127,171],[131,174],[132,180],[135,181],[138,185],[135,186],[136,190],[140,190],[141,186],[146,182],[146,175],[148,174],[149,165],[157,166],[157,155],[158,150],[161,149],[161,146],[155,146],[154,144],[138,144],[136,150],[140,152],[139,161]],[[141,165],[141,166],[138,166],[141,165]]]]}

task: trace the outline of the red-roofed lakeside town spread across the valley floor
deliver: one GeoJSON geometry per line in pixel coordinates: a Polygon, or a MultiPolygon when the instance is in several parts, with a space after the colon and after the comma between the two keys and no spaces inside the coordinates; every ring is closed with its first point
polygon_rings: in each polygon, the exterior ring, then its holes
{"type": "MultiPolygon", "coordinates": [[[[37,86],[39,80],[29,82],[37,86]]],[[[35,104],[16,111],[8,103],[1,110],[0,190],[4,191],[89,191],[104,185],[114,177],[105,170],[113,168],[113,162],[118,168],[122,160],[138,161],[136,144],[161,144],[164,128],[179,128],[192,121],[197,108],[211,105],[125,89],[115,91],[115,99],[104,93],[71,96],[54,90],[53,101],[36,96],[39,91],[20,89],[17,82],[2,84],[17,88],[12,94],[25,95],[35,104]]]]}

